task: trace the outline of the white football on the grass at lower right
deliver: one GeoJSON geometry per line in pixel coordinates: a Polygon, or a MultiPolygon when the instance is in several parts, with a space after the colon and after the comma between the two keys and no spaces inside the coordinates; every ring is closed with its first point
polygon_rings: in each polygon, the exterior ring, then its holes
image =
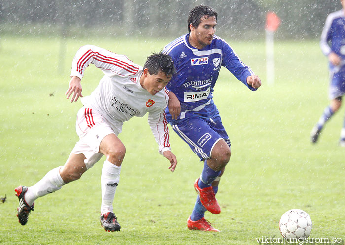
{"type": "Polygon", "coordinates": [[[280,233],[285,238],[307,238],[311,229],[311,217],[300,209],[286,211],[279,221],[280,233]]]}

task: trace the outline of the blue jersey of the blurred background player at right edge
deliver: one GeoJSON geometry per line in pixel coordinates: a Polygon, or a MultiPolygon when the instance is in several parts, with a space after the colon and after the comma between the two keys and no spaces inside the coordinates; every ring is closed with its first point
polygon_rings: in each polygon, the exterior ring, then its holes
{"type": "MultiPolygon", "coordinates": [[[[333,12],[327,16],[325,26],[321,34],[321,50],[328,56],[331,52],[341,57],[343,62],[340,66],[345,65],[345,15],[344,10],[333,12]]],[[[331,70],[340,67],[334,67],[330,64],[331,70]]],[[[336,71],[337,72],[337,71],[336,71]]]]}

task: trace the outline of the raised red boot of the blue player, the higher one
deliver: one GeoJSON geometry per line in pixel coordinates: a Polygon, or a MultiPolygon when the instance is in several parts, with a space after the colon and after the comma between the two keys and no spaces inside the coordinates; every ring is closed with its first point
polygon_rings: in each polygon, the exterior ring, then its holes
{"type": "Polygon", "coordinates": [[[198,185],[199,178],[194,182],[194,188],[199,195],[201,204],[212,214],[220,213],[220,206],[215,198],[212,186],[200,188],[198,185]]]}

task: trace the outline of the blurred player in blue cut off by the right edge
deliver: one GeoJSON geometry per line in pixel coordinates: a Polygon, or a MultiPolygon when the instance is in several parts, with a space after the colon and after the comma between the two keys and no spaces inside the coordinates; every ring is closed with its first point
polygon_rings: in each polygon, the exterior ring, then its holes
{"type": "MultiPolygon", "coordinates": [[[[321,34],[321,50],[328,57],[330,70],[329,99],[319,121],[311,131],[311,142],[316,143],[325,123],[339,110],[345,94],[345,0],[343,9],[327,16],[321,34]]],[[[345,147],[345,119],[340,133],[339,145],[345,147]]]]}

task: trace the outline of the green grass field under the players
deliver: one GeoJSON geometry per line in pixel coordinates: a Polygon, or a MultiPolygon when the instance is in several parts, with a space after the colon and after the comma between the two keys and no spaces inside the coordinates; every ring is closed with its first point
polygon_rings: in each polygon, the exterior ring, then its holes
{"type": "MultiPolygon", "coordinates": [[[[292,208],[310,214],[311,237],[344,240],[345,149],[338,146],[344,108],[328,122],[319,143],[310,143],[311,128],[328,104],[327,61],[318,41],[277,42],[272,86],[265,83],[264,43],[228,41],[263,86],[251,92],[223,68],[215,87],[215,103],[232,142],[217,194],[222,213],[206,214],[221,232],[187,229],[196,199],[193,182],[202,164],[171,129],[178,158],[171,173],[144,117],[126,122],[119,135],[127,149],[114,201],[122,228],[107,233],[99,223],[104,158],[80,180],[37,199],[25,226],[17,221],[14,189],[31,186],[63,165],[78,140],[75,117],[81,103],[71,104],[64,94],[80,46],[101,46],[143,65],[150,51],[168,40],[68,39],[59,64],[58,39],[2,37],[0,197],[7,199],[0,203],[0,244],[255,245],[259,237],[280,237],[279,218],[292,208]]],[[[84,96],[102,76],[95,67],[87,69],[84,96]]]]}

